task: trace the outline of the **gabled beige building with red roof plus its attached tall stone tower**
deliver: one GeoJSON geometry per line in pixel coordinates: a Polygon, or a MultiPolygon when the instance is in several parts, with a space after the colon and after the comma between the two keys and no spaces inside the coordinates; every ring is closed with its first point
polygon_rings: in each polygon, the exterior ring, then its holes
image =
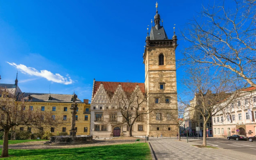
{"type": "MultiPolygon", "coordinates": [[[[157,7],[157,6],[156,6],[157,7]]],[[[145,82],[138,83],[142,93],[147,95],[145,109],[150,112],[144,124],[136,124],[133,128],[134,135],[147,134],[148,136],[176,136],[178,127],[171,117],[177,115],[177,86],[176,86],[176,58],[177,36],[169,39],[164,27],[160,25],[160,15],[156,11],[154,26],[150,35],[146,37],[146,48],[143,54],[145,64],[145,82]]],[[[107,107],[113,105],[112,94],[118,88],[126,92],[124,82],[99,82],[94,81],[92,94],[92,119],[91,133],[93,135],[126,135],[127,128],[123,126],[106,126],[104,131],[98,121],[98,116],[109,117],[107,107]],[[120,83],[120,84],[119,84],[120,83]],[[110,91],[112,92],[111,94],[110,91]],[[93,117],[94,116],[94,117],[93,117]],[[118,134],[115,134],[118,133],[118,134]],[[119,134],[120,133],[120,134],[119,134]],[[122,133],[122,134],[121,134],[122,133]]],[[[134,90],[136,86],[131,89],[134,90]]],[[[116,113],[118,114],[118,113],[116,113]]],[[[121,121],[121,119],[120,119],[121,121]]]]}

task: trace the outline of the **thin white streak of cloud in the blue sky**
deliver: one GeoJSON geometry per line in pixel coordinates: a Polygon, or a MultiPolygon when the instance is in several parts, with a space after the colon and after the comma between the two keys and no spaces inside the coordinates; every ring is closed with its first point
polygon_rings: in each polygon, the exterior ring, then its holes
{"type": "Polygon", "coordinates": [[[72,84],[74,82],[68,74],[67,74],[67,77],[64,77],[58,73],[53,74],[48,70],[40,70],[39,72],[35,68],[27,67],[23,64],[16,64],[16,63],[10,63],[10,62],[7,62],[7,63],[16,67],[18,70],[20,70],[24,74],[43,77],[52,82],[61,83],[61,84],[72,84]]]}

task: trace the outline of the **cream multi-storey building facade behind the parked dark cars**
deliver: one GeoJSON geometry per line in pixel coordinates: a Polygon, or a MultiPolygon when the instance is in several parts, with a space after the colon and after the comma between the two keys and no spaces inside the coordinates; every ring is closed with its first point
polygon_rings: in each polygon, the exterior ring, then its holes
{"type": "MultiPolygon", "coordinates": [[[[223,105],[225,101],[222,102],[223,105]]],[[[218,112],[213,119],[214,137],[228,137],[234,134],[256,135],[256,88],[243,90],[223,112],[218,112]]]]}

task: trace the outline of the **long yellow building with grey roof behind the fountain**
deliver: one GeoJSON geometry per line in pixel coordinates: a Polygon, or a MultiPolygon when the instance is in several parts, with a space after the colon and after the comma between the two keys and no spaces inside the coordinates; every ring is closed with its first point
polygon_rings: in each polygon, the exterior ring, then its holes
{"type": "MultiPolygon", "coordinates": [[[[52,134],[57,132],[68,132],[71,129],[71,104],[72,94],[44,94],[44,93],[19,93],[23,94],[24,98],[28,100],[26,108],[34,110],[35,112],[51,112],[52,118],[61,117],[64,124],[54,127],[41,128],[43,131],[50,131],[52,134]]],[[[19,95],[18,95],[19,96],[19,95]]],[[[88,100],[84,99],[82,102],[77,98],[78,110],[76,114],[76,135],[90,135],[90,104],[88,100]]],[[[31,130],[31,132],[38,132],[36,128],[28,126],[16,126],[16,130],[31,130]]]]}

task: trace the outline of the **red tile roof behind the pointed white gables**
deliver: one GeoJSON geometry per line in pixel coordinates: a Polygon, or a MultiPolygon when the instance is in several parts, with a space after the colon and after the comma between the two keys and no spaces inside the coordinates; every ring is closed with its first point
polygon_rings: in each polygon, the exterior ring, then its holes
{"type": "Polygon", "coordinates": [[[121,84],[124,92],[131,93],[136,85],[138,84],[140,87],[140,90],[145,93],[145,85],[144,83],[133,83],[133,82],[103,82],[103,81],[95,81],[94,83],[94,90],[93,90],[93,96],[96,94],[100,84],[103,84],[105,90],[108,92],[108,94],[114,94],[116,91],[116,88],[119,84],[121,84]]]}

